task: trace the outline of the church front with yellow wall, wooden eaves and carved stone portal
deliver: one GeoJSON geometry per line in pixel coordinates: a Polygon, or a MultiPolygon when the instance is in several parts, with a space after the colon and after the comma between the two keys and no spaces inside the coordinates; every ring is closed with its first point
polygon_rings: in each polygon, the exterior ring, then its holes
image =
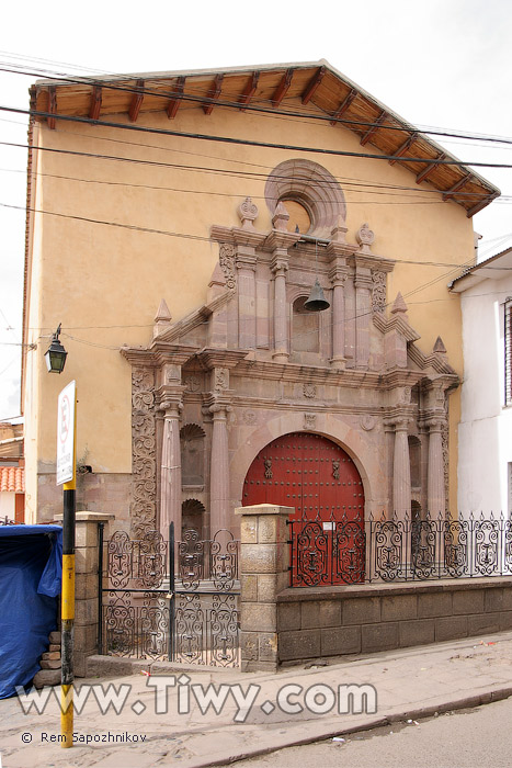
{"type": "Polygon", "coordinates": [[[327,527],[455,508],[446,284],[494,188],[327,63],[43,81],[33,112],[27,519],[59,511],[72,379],[79,504],[135,537],[237,534],[260,502],[327,527]]]}

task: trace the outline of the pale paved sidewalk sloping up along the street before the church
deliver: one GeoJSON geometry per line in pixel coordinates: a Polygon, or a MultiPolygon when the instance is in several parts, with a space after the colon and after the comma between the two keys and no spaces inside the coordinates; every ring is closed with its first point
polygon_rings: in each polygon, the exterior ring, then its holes
{"type": "MultiPolygon", "coordinates": [[[[148,666],[141,667],[148,670],[148,666]]],[[[242,675],[239,670],[216,668],[186,671],[185,677],[183,674],[175,666],[153,664],[149,677],[139,670],[126,677],[80,680],[81,685],[102,682],[103,688],[112,682],[117,691],[120,686],[130,689],[121,691],[126,701],[120,714],[112,705],[102,714],[90,692],[82,712],[75,713],[75,732],[82,739],[89,736],[91,743],[78,742],[72,749],[62,749],[58,743],[50,742],[60,734],[59,708],[53,696],[42,714],[34,709],[24,714],[16,698],[0,701],[2,768],[224,766],[389,721],[414,720],[487,703],[512,696],[512,632],[339,659],[329,666],[288,667],[276,675],[242,675]],[[216,685],[220,698],[226,696],[218,714],[212,704],[203,714],[198,703],[202,691],[211,682],[216,685]],[[236,688],[223,692],[218,688],[223,684],[236,688]],[[349,684],[373,686],[377,692],[377,711],[339,714],[339,686],[349,684]],[[192,690],[194,685],[201,688],[192,690]],[[158,701],[157,686],[161,690],[158,701]],[[295,688],[285,689],[287,697],[282,692],[280,708],[278,691],[285,686],[295,688]],[[320,688],[310,690],[311,686],[320,688]],[[335,704],[326,714],[315,713],[305,705],[307,702],[321,710],[329,696],[332,702],[335,699],[335,704]],[[243,698],[254,698],[250,711],[247,705],[243,710],[243,698]],[[164,703],[167,713],[159,713],[164,703]],[[292,713],[293,709],[301,711],[292,713]]],[[[371,693],[372,689],[367,691],[371,693]]],[[[332,702],[327,701],[326,709],[332,702]]],[[[342,707],[343,710],[346,708],[342,707]]]]}

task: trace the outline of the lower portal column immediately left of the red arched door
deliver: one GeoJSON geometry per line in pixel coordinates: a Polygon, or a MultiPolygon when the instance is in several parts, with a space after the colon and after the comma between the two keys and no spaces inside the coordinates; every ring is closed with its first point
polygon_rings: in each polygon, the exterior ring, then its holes
{"type": "Polygon", "coordinates": [[[228,413],[226,403],[215,403],[209,407],[213,415],[212,464],[209,486],[211,537],[223,528],[229,529],[229,452],[228,413]]]}

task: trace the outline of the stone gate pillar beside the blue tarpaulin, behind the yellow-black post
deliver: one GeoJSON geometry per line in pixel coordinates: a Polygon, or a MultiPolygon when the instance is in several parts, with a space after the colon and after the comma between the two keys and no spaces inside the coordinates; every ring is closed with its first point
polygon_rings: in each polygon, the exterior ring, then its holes
{"type": "MultiPolygon", "coordinates": [[[[61,519],[61,515],[56,516],[61,519]]],[[[115,515],[77,512],[75,540],[75,675],[86,677],[87,657],[98,647],[98,523],[113,520],[115,515]]],[[[105,539],[107,537],[105,535],[105,539]]]]}

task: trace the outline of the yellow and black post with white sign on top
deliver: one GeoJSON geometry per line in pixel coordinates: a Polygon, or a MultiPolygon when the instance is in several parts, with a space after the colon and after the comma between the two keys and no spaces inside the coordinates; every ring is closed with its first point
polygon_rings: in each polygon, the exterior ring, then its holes
{"type": "Polygon", "coordinates": [[[60,687],[61,747],[72,747],[73,729],[73,630],[75,630],[75,518],[77,456],[77,384],[71,382],[59,395],[57,417],[57,485],[64,485],[62,597],[60,687]]]}

